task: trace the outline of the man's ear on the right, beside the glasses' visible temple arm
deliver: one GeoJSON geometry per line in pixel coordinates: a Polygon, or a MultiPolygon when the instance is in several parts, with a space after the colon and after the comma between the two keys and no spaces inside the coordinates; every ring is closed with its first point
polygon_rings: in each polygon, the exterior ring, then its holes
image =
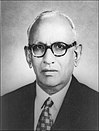
{"type": "Polygon", "coordinates": [[[82,54],[82,45],[78,45],[76,50],[74,51],[74,66],[77,67],[80,61],[80,57],[82,54]]]}

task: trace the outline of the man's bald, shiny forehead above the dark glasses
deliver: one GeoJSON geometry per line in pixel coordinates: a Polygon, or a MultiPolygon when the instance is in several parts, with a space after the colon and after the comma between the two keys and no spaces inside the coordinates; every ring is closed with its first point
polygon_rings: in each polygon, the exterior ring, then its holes
{"type": "Polygon", "coordinates": [[[69,21],[62,16],[43,18],[39,24],[35,24],[35,30],[31,33],[31,41],[36,43],[52,43],[56,41],[73,42],[74,33],[69,21]]]}

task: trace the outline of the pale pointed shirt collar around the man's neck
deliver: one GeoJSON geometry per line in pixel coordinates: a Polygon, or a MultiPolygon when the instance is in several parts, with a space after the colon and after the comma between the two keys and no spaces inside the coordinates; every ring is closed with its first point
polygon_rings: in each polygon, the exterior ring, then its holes
{"type": "Polygon", "coordinates": [[[53,94],[53,95],[49,95],[47,94],[44,90],[41,89],[41,87],[36,83],[36,100],[38,101],[38,103],[40,104],[39,107],[41,107],[44,103],[44,101],[50,97],[52,99],[52,101],[54,102],[54,106],[57,109],[57,111],[60,109],[61,104],[63,102],[63,99],[65,97],[65,94],[69,88],[71,79],[69,80],[68,84],[59,92],[53,94]]]}

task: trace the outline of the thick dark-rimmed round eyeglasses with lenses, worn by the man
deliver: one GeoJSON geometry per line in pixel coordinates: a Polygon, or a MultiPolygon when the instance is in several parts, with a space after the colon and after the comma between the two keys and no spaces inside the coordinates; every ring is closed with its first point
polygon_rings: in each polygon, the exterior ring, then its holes
{"type": "Polygon", "coordinates": [[[46,44],[39,42],[37,44],[29,45],[29,48],[31,49],[34,57],[38,57],[38,58],[43,57],[46,54],[47,49],[51,49],[54,56],[61,57],[66,54],[69,48],[75,45],[76,45],[76,41],[74,41],[72,44],[69,45],[67,45],[64,42],[55,42],[50,46],[47,46],[46,44]]]}

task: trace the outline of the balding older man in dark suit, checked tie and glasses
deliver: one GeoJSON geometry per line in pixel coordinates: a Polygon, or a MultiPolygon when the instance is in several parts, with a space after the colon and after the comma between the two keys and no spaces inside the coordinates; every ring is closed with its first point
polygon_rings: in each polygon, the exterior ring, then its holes
{"type": "Polygon", "coordinates": [[[36,81],[3,96],[2,128],[98,130],[97,92],[73,76],[82,46],[71,19],[46,11],[27,33],[25,55],[36,81]]]}

